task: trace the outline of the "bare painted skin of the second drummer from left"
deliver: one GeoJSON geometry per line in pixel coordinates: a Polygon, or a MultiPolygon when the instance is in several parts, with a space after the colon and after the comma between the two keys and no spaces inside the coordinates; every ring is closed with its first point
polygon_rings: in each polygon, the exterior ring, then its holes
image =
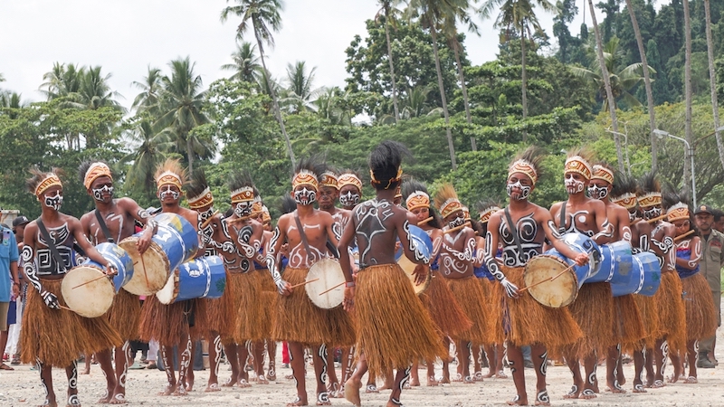
{"type": "MultiPolygon", "coordinates": [[[[113,187],[113,180],[109,176],[103,175],[96,178],[90,187],[86,190],[93,197],[92,189],[100,189],[103,187],[113,187]]],[[[100,216],[106,222],[110,236],[116,241],[122,241],[135,233],[134,220],[146,224],[148,218],[141,216],[145,211],[136,204],[136,201],[130,198],[113,199],[113,194],[104,192],[101,199],[95,199],[93,202],[100,216]]],[[[86,238],[94,245],[105,242],[106,236],[100,229],[100,224],[94,212],[86,213],[81,216],[81,225],[86,238]]],[[[157,232],[147,228],[136,241],[136,248],[140,254],[143,254],[151,243],[151,238],[157,232]]],[[[100,368],[106,375],[107,393],[98,402],[110,404],[124,404],[126,402],[126,385],[125,377],[128,374],[129,365],[133,364],[132,355],[129,358],[129,338],[123,338],[126,343],[123,346],[116,347],[113,357],[116,361],[116,369],[113,370],[111,364],[111,349],[99,352],[96,357],[100,363],[100,368]]]]}

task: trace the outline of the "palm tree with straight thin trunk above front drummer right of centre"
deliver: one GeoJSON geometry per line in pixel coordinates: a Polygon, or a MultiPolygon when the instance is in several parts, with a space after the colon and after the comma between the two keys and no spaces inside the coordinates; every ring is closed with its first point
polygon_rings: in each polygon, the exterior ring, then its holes
{"type": "MultiPolygon", "coordinates": [[[[519,33],[520,35],[520,55],[521,55],[521,80],[522,80],[522,102],[523,102],[523,118],[528,117],[528,75],[526,71],[526,41],[531,41],[533,33],[542,33],[543,28],[538,22],[533,9],[538,5],[544,11],[555,12],[556,6],[548,0],[486,0],[486,2],[478,10],[483,19],[491,18],[493,12],[500,8],[500,14],[495,20],[493,27],[504,28],[506,33],[519,33]]],[[[524,140],[525,140],[524,134],[524,140]]]]}

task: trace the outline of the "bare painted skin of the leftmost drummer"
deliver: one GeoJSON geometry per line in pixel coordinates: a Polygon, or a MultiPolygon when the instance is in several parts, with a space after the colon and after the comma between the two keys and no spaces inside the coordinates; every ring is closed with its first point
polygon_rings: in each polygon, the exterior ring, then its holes
{"type": "MultiPolygon", "coordinates": [[[[81,249],[86,252],[88,257],[96,261],[100,264],[106,265],[106,269],[104,272],[110,276],[114,275],[116,273],[115,269],[110,269],[108,267],[109,262],[108,260],[105,260],[103,256],[90,244],[88,240],[85,238],[85,234],[83,233],[83,228],[81,225],[81,221],[79,221],[77,218],[72,217],[71,215],[67,215],[65,213],[60,213],[58,210],[53,208],[52,206],[48,206],[45,204],[45,196],[53,196],[55,194],[61,194],[62,195],[62,187],[61,186],[52,186],[45,190],[42,194],[37,195],[38,201],[41,203],[41,219],[43,220],[43,224],[45,225],[45,229],[48,229],[49,231],[53,228],[59,228],[63,224],[68,225],[68,231],[70,232],[71,236],[73,237],[73,240],[81,246],[81,249]]],[[[38,241],[38,235],[39,235],[38,225],[37,222],[33,221],[27,224],[25,226],[24,231],[24,245],[30,246],[33,248],[33,252],[37,252],[39,249],[46,249],[47,246],[38,241]]],[[[15,274],[15,278],[17,277],[17,274],[15,274]]],[[[49,275],[49,276],[43,276],[43,279],[62,279],[65,277],[65,274],[57,274],[57,275],[49,275]]],[[[67,309],[60,309],[57,312],[71,312],[67,309]]],[[[70,366],[67,366],[65,368],[65,374],[68,376],[68,380],[71,380],[71,377],[76,375],[77,368],[74,364],[71,364],[70,366]]],[[[47,391],[48,396],[45,400],[45,405],[55,407],[58,405],[55,397],[55,392],[52,388],[52,366],[48,364],[41,364],[41,378],[43,379],[47,391]]],[[[68,388],[68,396],[70,397],[73,394],[77,394],[78,389],[71,389],[70,386],[68,388]]]]}

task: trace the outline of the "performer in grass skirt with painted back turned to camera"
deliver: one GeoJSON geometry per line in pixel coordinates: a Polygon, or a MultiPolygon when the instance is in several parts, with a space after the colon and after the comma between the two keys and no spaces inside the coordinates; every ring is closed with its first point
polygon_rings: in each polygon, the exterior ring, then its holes
{"type": "MultiPolygon", "coordinates": [[[[417,263],[417,283],[427,277],[430,259],[411,243],[406,211],[393,204],[395,189],[402,176],[403,155],[407,148],[394,141],[383,141],[369,156],[369,172],[376,198],[359,204],[352,222],[339,241],[342,270],[347,284],[344,306],[357,315],[357,352],[364,352],[371,372],[386,374],[397,369],[395,385],[387,407],[401,405],[400,393],[410,377],[415,360],[433,360],[447,352],[440,344],[432,319],[414,295],[405,272],[395,262],[395,239],[405,256],[417,263]],[[348,247],[357,238],[360,270],[357,284],[352,279],[348,247]],[[401,340],[403,339],[404,340],[401,340]]],[[[345,398],[360,405],[359,388],[365,374],[362,365],[345,384],[345,398]]]]}

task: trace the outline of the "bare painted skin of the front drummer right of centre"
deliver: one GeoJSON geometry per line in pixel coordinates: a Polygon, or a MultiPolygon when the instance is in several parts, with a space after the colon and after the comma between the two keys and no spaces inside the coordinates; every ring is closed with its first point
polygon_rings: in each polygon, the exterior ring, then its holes
{"type": "MultiPolygon", "coordinates": [[[[508,177],[508,185],[510,187],[510,203],[508,209],[510,211],[510,218],[513,224],[517,224],[523,216],[532,215],[533,221],[537,224],[538,233],[533,238],[533,242],[540,245],[541,250],[543,241],[548,238],[548,241],[553,243],[553,247],[558,252],[566,256],[567,258],[576,261],[578,265],[584,265],[588,262],[588,256],[586,253],[578,253],[570,249],[567,244],[560,241],[557,238],[557,231],[551,230],[550,225],[553,223],[553,219],[550,217],[550,213],[545,208],[532,204],[528,201],[524,190],[517,186],[521,185],[523,188],[529,188],[530,193],[535,189],[533,181],[529,175],[523,173],[513,173],[508,177]]],[[[488,237],[486,238],[486,247],[495,248],[497,251],[500,239],[500,223],[503,222],[504,212],[498,211],[493,213],[490,221],[488,222],[488,237]],[[490,241],[487,241],[490,239],[490,241]]],[[[494,257],[496,253],[485,253],[487,257],[494,257]]],[[[512,298],[518,298],[519,294],[517,289],[512,293],[512,298]]],[[[539,357],[538,355],[545,355],[547,353],[546,346],[543,344],[532,344],[531,355],[533,355],[533,364],[535,367],[536,376],[538,381],[536,387],[537,393],[546,391],[546,376],[540,373],[540,366],[546,362],[545,358],[539,357]]],[[[508,344],[508,358],[511,363],[515,366],[523,366],[523,353],[520,346],[513,345],[509,342],[508,344]]],[[[517,369],[513,372],[513,382],[515,383],[516,391],[518,393],[517,400],[509,402],[509,404],[528,405],[528,393],[526,392],[525,374],[523,369],[517,369]]],[[[540,403],[540,402],[536,402],[540,403]]]]}

